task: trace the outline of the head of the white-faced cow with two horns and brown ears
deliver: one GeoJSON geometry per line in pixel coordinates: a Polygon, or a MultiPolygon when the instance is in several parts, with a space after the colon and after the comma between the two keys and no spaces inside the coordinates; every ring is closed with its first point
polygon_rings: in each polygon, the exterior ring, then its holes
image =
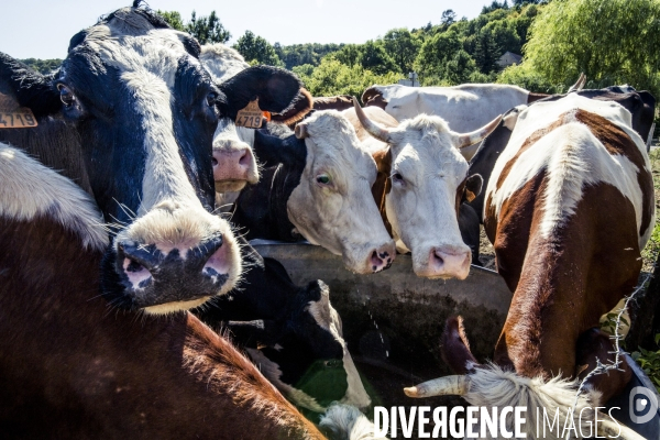
{"type": "MultiPolygon", "coordinates": [[[[418,276],[464,279],[472,252],[459,229],[460,207],[481,191],[482,179],[468,173],[461,148],[485,138],[501,117],[457,133],[440,117],[419,114],[399,123],[380,108],[362,109],[358,100],[344,116],[378,165],[373,195],[397,250],[413,253],[418,276]]],[[[468,215],[470,209],[463,208],[468,215]]]]}

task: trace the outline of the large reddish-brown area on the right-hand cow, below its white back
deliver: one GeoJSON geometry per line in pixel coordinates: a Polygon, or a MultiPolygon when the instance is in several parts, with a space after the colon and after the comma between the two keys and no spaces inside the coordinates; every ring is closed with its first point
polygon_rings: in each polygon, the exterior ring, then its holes
{"type": "Polygon", "coordinates": [[[494,360],[528,377],[568,377],[584,363],[575,358],[579,336],[635,287],[640,251],[632,204],[604,183],[585,187],[575,213],[541,237],[544,187],[543,173],[499,216],[498,271],[515,292],[494,360]]]}

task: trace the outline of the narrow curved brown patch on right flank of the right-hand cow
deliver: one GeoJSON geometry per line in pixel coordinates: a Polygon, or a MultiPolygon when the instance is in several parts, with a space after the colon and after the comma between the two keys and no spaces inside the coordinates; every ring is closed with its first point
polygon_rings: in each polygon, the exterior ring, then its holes
{"type": "Polygon", "coordinates": [[[598,141],[603,143],[607,152],[612,155],[626,156],[638,168],[637,184],[641,188],[642,210],[639,235],[649,228],[653,217],[653,178],[646,170],[645,160],[637,144],[630,139],[628,133],[617,127],[615,123],[598,114],[579,109],[575,112],[575,119],[585,124],[598,141]]]}

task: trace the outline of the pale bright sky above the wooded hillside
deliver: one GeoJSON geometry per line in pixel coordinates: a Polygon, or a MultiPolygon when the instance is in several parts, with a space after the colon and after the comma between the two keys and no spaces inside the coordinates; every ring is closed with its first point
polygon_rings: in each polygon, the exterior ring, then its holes
{"type": "MultiPolygon", "coordinates": [[[[78,31],[132,0],[3,1],[0,52],[14,58],[64,58],[78,31]]],[[[491,0],[151,0],[151,8],[179,11],[184,20],[216,11],[233,44],[246,30],[271,44],[364,43],[394,28],[440,23],[442,11],[473,19],[491,0]]]]}

